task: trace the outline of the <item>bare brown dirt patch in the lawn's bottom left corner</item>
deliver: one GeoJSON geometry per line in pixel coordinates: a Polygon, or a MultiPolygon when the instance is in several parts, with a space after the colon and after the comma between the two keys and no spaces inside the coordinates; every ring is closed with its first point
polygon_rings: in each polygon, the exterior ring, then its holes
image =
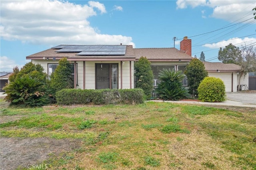
{"type": "MultiPolygon", "coordinates": [[[[31,168],[50,158],[80,148],[81,140],[53,138],[0,138],[0,167],[14,170],[18,167],[31,168]]],[[[47,166],[42,165],[41,166],[47,166]]]]}

